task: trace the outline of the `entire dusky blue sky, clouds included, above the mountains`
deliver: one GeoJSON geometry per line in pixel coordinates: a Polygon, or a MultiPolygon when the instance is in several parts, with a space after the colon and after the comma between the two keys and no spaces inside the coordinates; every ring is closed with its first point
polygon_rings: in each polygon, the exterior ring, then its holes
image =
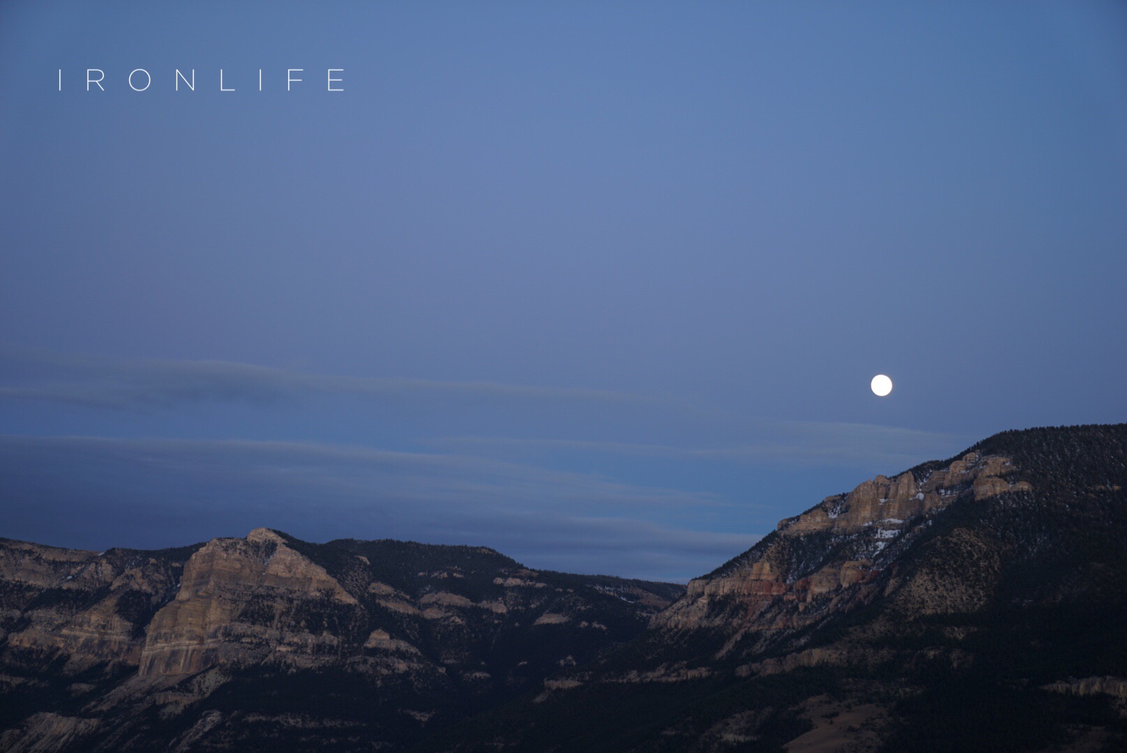
{"type": "Polygon", "coordinates": [[[1125,41],[1118,3],[5,3],[0,535],[684,579],[1121,422],[1125,41]]]}

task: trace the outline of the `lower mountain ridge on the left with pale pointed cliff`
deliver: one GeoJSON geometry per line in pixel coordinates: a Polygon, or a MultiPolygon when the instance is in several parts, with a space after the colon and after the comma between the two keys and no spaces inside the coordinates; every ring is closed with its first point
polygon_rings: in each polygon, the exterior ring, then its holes
{"type": "Polygon", "coordinates": [[[628,640],[682,592],[268,529],[153,552],[2,540],[0,750],[398,747],[628,640]]]}

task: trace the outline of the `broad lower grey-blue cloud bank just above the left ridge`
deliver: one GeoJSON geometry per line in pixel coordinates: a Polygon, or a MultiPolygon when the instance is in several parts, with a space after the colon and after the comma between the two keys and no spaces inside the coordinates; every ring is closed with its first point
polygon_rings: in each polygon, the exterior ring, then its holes
{"type": "Polygon", "coordinates": [[[0,535],[171,546],[268,525],[311,540],[495,547],[533,567],[685,579],[757,540],[681,530],[713,495],[460,455],[322,444],[0,437],[0,535]]]}

